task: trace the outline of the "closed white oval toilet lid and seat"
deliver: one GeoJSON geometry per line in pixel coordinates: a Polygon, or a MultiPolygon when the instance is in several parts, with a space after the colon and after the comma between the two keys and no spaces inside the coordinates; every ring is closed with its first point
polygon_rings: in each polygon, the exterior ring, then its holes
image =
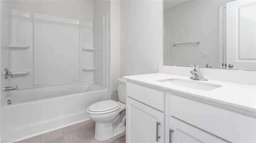
{"type": "Polygon", "coordinates": [[[107,114],[114,112],[121,108],[121,105],[115,102],[114,100],[104,100],[101,102],[97,102],[88,107],[88,114],[107,114]]]}

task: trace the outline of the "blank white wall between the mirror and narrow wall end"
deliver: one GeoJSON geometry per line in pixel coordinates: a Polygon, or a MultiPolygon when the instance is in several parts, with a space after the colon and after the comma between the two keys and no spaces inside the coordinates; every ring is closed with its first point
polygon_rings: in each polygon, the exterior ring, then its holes
{"type": "Polygon", "coordinates": [[[163,64],[162,0],[120,2],[120,75],[157,72],[163,64]]]}

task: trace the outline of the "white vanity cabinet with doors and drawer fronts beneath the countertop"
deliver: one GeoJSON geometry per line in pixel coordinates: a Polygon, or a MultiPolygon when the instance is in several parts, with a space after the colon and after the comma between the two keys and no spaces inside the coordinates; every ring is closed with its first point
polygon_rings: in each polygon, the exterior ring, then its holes
{"type": "Polygon", "coordinates": [[[256,118],[213,104],[127,80],[126,142],[256,143],[256,118]]]}

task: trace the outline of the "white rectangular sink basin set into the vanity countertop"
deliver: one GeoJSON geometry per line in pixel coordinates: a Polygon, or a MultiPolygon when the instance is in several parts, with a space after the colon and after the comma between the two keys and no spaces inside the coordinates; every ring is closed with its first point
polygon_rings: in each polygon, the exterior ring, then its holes
{"type": "Polygon", "coordinates": [[[214,90],[216,88],[221,87],[222,85],[219,84],[212,84],[207,82],[200,82],[196,80],[184,80],[179,78],[169,78],[164,80],[156,80],[158,82],[165,82],[166,84],[170,84],[170,86],[182,86],[186,88],[192,88],[196,90],[204,90],[204,91],[210,91],[214,90]]]}

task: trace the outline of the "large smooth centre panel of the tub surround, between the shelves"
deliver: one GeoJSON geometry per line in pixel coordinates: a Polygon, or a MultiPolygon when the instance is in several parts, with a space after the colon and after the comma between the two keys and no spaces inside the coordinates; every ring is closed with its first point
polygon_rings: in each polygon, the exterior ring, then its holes
{"type": "Polygon", "coordinates": [[[34,20],[34,85],[79,81],[78,55],[79,25],[34,20]]]}

